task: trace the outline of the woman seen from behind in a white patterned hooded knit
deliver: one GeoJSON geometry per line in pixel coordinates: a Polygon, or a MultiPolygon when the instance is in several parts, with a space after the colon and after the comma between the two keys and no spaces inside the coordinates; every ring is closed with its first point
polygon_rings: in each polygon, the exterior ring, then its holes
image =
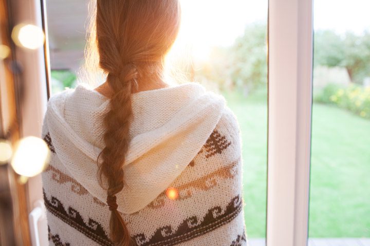
{"type": "Polygon", "coordinates": [[[97,0],[95,24],[105,83],[52,96],[44,119],[50,243],[246,245],[236,118],[164,80],[178,1],[97,0]]]}

